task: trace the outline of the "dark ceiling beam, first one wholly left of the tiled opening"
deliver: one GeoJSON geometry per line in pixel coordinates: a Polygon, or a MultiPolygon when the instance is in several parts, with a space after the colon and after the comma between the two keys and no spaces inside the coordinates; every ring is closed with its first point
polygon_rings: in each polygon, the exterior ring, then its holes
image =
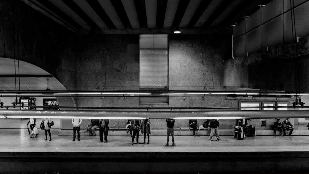
{"type": "MultiPolygon", "coordinates": [[[[91,0],[88,0],[88,1],[91,1],[91,0]]],[[[112,6],[114,7],[123,26],[125,28],[132,28],[128,15],[125,12],[125,7],[123,6],[121,0],[110,0],[110,2],[112,3],[112,6]]]]}

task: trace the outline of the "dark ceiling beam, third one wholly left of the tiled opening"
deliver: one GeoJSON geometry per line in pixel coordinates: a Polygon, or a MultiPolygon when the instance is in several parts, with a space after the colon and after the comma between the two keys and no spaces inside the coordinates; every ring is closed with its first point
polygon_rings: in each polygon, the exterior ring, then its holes
{"type": "Polygon", "coordinates": [[[85,22],[88,23],[92,28],[100,28],[84,11],[81,9],[73,0],[61,0],[65,3],[72,11],[80,16],[85,22]]]}

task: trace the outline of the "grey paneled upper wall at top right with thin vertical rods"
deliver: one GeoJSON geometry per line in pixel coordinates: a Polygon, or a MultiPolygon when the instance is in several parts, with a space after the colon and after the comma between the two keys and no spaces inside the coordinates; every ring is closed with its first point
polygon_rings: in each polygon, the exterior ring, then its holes
{"type": "MultiPolygon", "coordinates": [[[[294,7],[296,37],[308,36],[309,2],[297,0],[294,1],[294,7]]],[[[233,29],[234,56],[264,51],[266,47],[292,42],[290,9],[290,0],[273,0],[238,23],[233,29]]],[[[292,16],[294,17],[294,13],[292,16]]],[[[294,27],[293,30],[295,31],[294,27]]]]}

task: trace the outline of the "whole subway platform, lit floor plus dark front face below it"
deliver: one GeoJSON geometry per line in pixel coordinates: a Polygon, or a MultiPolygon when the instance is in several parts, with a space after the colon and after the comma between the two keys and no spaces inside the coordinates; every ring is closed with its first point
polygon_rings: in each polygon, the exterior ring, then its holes
{"type": "MultiPolygon", "coordinates": [[[[256,136],[235,140],[221,136],[175,136],[176,146],[164,146],[166,136],[151,136],[150,144],[131,145],[131,137],[58,136],[44,131],[29,138],[27,128],[0,129],[0,173],[308,173],[309,136],[256,136]]],[[[16,127],[16,126],[15,126],[16,127]]],[[[25,126],[22,126],[25,127],[25,126]]],[[[309,131],[305,128],[305,131],[309,131]]],[[[192,131],[191,131],[192,133],[192,131]]],[[[220,133],[220,132],[219,132],[220,133]]],[[[139,136],[139,142],[144,137],[139,136]]],[[[147,142],[147,138],[146,138],[147,142]]],[[[171,145],[171,137],[170,137],[171,145]]]]}

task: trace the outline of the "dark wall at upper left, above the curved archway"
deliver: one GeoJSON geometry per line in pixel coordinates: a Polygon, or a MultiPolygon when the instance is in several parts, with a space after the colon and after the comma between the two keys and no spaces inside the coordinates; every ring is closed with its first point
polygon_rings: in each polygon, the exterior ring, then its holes
{"type": "Polygon", "coordinates": [[[39,66],[76,86],[75,34],[19,0],[0,2],[0,57],[39,66]],[[15,48],[15,56],[14,56],[15,48]]]}

